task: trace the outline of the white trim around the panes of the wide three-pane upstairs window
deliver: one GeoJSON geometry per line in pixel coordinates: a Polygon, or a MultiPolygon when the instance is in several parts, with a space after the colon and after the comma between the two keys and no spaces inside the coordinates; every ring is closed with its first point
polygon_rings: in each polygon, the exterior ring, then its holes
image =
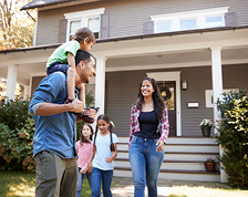
{"type": "Polygon", "coordinates": [[[206,28],[206,18],[209,17],[223,17],[223,27],[225,25],[225,13],[228,12],[229,7],[214,8],[214,9],[205,9],[205,10],[194,10],[186,12],[175,12],[175,13],[166,13],[166,14],[156,14],[149,15],[151,20],[154,21],[154,32],[156,33],[156,23],[157,22],[169,22],[170,21],[170,30],[172,31],[180,31],[179,21],[196,19],[197,29],[206,28]]]}

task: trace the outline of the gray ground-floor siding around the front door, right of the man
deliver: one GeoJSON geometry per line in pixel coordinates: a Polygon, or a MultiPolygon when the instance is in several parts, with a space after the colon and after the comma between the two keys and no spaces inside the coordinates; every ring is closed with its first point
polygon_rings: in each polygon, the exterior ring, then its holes
{"type": "MultiPolygon", "coordinates": [[[[188,81],[188,90],[180,91],[183,136],[202,136],[199,123],[213,121],[213,108],[205,104],[205,90],[211,90],[211,68],[183,68],[149,70],[149,72],[182,71],[182,80],[188,81]],[[198,108],[188,108],[188,102],[198,102],[198,108]]],[[[136,101],[140,82],[146,71],[106,73],[106,114],[115,123],[118,136],[128,136],[131,106],[136,101]]],[[[248,90],[248,64],[223,66],[224,89],[248,90]]],[[[213,129],[214,132],[214,129],[213,129]]]]}

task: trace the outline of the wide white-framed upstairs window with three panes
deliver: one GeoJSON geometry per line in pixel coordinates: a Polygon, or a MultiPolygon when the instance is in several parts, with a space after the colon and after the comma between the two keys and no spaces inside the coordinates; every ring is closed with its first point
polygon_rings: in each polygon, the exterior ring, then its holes
{"type": "Polygon", "coordinates": [[[229,7],[151,15],[155,33],[224,27],[229,7]]]}

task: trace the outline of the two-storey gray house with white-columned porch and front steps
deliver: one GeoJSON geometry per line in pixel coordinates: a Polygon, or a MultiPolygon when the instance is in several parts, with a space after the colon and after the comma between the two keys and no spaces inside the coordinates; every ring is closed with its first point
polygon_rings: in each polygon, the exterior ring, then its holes
{"type": "MultiPolygon", "coordinates": [[[[34,45],[0,51],[7,95],[16,83],[32,95],[45,76],[45,62],[80,27],[99,39],[91,50],[96,77],[86,86],[122,138],[116,176],[132,176],[127,160],[131,106],[140,82],[154,77],[169,90],[170,134],[162,178],[225,182],[225,172],[204,172],[219,154],[214,138],[203,138],[203,118],[216,121],[214,104],[224,91],[248,89],[248,1],[241,0],[33,0],[38,9],[34,45]],[[123,173],[124,172],[124,173],[123,173]]],[[[163,92],[165,93],[165,92],[163,92]]],[[[214,131],[213,131],[214,132],[214,131]]]]}

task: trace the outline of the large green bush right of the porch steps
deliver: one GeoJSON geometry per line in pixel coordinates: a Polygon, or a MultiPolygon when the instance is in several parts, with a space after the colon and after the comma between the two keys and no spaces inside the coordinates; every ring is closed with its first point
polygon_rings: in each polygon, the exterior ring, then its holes
{"type": "Polygon", "coordinates": [[[224,147],[224,154],[218,159],[223,163],[228,182],[234,187],[248,188],[248,97],[246,92],[229,92],[223,94],[223,101],[217,101],[223,112],[223,120],[216,138],[224,147]]]}

